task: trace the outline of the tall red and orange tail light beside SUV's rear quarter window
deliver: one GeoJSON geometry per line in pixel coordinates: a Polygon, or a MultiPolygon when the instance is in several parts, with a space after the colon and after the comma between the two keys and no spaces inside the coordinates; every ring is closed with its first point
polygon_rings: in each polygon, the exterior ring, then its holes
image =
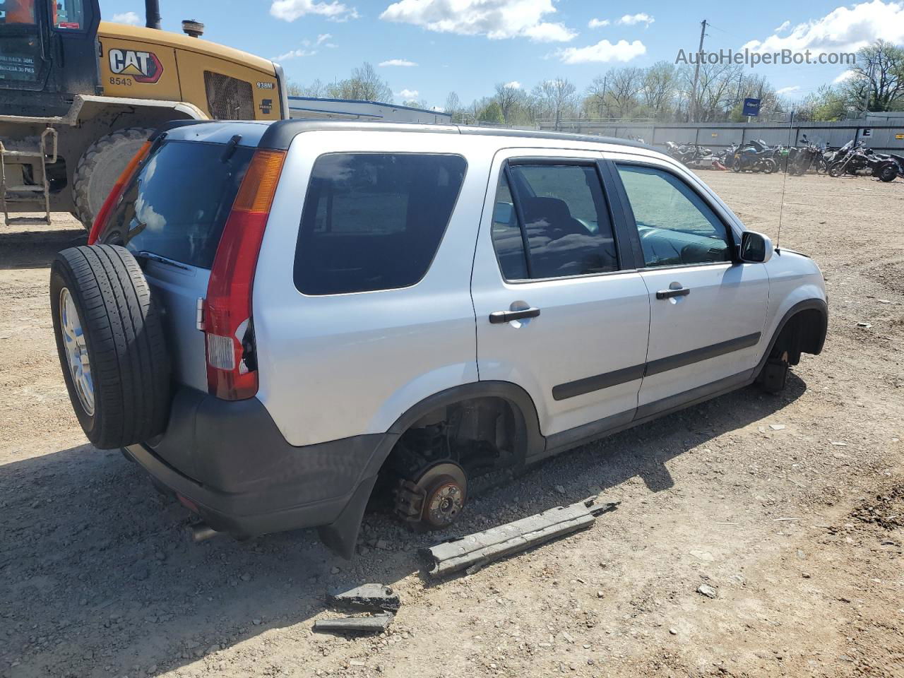
{"type": "Polygon", "coordinates": [[[223,400],[258,392],[251,287],[285,151],[256,151],[213,259],[204,306],[207,389],[223,400]]]}

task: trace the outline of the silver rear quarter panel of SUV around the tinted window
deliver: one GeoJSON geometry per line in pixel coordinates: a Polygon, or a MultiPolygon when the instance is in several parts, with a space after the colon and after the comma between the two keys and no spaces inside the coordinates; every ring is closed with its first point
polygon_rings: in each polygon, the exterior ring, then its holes
{"type": "Polygon", "coordinates": [[[322,131],[292,142],[253,293],[258,398],[291,444],[384,432],[420,400],[477,381],[470,277],[491,157],[480,139],[451,134],[322,131]],[[315,159],[368,151],[466,158],[465,181],[436,257],[412,287],[303,295],[293,268],[315,159]]]}

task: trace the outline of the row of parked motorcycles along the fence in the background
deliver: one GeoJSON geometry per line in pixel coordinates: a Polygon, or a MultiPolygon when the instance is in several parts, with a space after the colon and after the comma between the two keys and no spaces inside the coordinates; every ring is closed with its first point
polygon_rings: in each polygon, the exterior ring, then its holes
{"type": "Polygon", "coordinates": [[[769,146],[762,139],[732,144],[714,154],[711,148],[697,144],[675,144],[665,142],[666,153],[683,165],[695,169],[730,169],[732,172],[773,172],[786,171],[788,174],[806,174],[814,170],[816,174],[837,177],[843,174],[865,174],[869,172],[880,181],[890,182],[897,177],[904,178],[904,156],[893,153],[876,153],[861,141],[849,141],[841,148],[829,148],[808,141],[806,135],[801,140],[803,146],[769,146]]]}

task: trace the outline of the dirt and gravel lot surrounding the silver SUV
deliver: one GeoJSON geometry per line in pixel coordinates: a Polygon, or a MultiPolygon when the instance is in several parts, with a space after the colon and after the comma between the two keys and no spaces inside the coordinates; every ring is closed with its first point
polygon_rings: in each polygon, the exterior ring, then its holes
{"type": "MultiPolygon", "coordinates": [[[[703,177],[777,235],[781,176],[703,177]]],[[[904,182],[789,177],[781,243],[824,270],[824,353],[781,397],[712,400],[479,498],[455,533],[622,504],[442,584],[414,552],[433,538],[381,514],[352,562],[313,531],[189,543],[184,508],[71,413],[47,267],[79,228],[0,230],[0,676],[904,675],[902,223],[904,182]],[[388,634],[311,632],[325,589],[367,581],[400,592],[388,634]]]]}

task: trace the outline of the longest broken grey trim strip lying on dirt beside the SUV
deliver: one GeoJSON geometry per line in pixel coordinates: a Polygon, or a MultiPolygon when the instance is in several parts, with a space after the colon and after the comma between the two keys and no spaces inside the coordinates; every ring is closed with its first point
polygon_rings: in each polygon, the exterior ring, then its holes
{"type": "Polygon", "coordinates": [[[599,514],[611,511],[619,504],[597,504],[597,501],[598,497],[590,497],[577,504],[556,506],[484,532],[443,541],[421,550],[420,554],[429,560],[428,573],[431,577],[444,577],[458,570],[473,574],[494,560],[526,551],[571,532],[586,530],[599,514]]]}

